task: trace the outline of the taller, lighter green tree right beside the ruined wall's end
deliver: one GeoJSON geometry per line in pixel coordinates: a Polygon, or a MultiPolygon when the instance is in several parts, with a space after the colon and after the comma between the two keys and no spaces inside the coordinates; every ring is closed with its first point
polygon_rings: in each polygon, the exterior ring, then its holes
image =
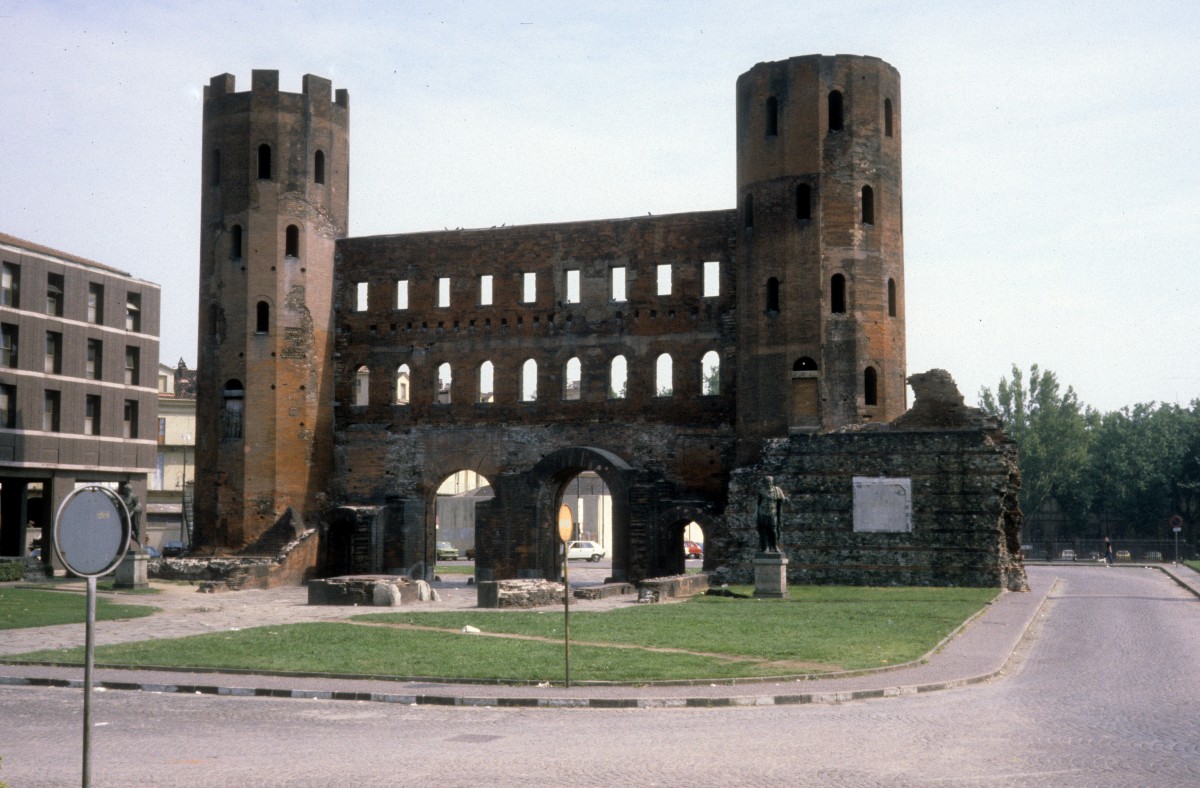
{"type": "MultiPolygon", "coordinates": [[[[1088,458],[1098,415],[1079,402],[1075,390],[1061,390],[1049,369],[1030,367],[1028,384],[1013,365],[996,392],[979,391],[979,407],[996,416],[1020,450],[1021,510],[1034,516],[1051,499],[1068,523],[1082,533],[1092,501],[1088,458]]],[[[1062,536],[1062,535],[1061,535],[1062,536]]]]}

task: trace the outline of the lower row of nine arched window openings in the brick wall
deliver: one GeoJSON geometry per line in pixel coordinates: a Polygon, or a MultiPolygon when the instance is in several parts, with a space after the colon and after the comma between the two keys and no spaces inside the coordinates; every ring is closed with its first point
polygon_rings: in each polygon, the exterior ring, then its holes
{"type": "MultiPolygon", "coordinates": [[[[700,360],[701,384],[700,396],[715,397],[721,393],[721,359],[715,350],[709,350],[700,360]]],[[[484,361],[479,365],[479,387],[473,395],[474,402],[494,402],[496,365],[484,361]]],[[[366,405],[370,402],[371,369],[362,365],[354,371],[354,405],[366,405]]],[[[563,390],[560,398],[565,401],[582,399],[583,363],[571,357],[563,365],[563,390]]],[[[625,356],[613,356],[608,362],[608,386],[606,398],[624,399],[629,393],[629,362],[625,356]]],[[[654,396],[674,396],[674,360],[670,353],[664,353],[654,362],[654,396]]],[[[396,368],[392,402],[397,405],[412,404],[412,368],[402,363],[396,368]]],[[[454,401],[454,368],[449,361],[438,365],[433,380],[432,399],[439,404],[454,401]]],[[[517,390],[520,402],[538,399],[538,361],[527,359],[521,365],[521,380],[517,390]]]]}

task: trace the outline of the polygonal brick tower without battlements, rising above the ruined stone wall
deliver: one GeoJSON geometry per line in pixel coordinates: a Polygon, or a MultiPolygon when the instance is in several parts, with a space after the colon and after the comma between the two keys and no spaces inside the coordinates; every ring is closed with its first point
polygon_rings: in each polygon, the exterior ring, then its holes
{"type": "Polygon", "coordinates": [[[739,459],[906,409],[900,74],[808,55],[738,78],[739,459]]]}

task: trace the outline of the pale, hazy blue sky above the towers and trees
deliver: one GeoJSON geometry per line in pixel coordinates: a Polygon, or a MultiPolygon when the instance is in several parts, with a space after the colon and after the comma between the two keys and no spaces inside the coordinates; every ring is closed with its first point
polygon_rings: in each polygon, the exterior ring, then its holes
{"type": "Polygon", "coordinates": [[[196,359],[200,95],[350,92],[350,234],[734,204],[754,64],[902,79],[908,371],[1200,397],[1200,5],[0,0],[0,231],[163,285],[196,359]]]}

